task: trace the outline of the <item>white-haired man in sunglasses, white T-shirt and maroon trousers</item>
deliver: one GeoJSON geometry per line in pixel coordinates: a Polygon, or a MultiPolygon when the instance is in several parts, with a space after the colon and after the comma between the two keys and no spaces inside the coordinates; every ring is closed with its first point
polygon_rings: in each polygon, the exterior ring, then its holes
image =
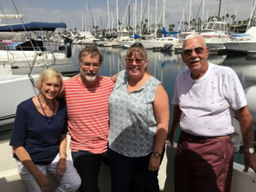
{"type": "Polygon", "coordinates": [[[245,171],[256,171],[253,122],[240,80],[229,67],[208,63],[201,35],[188,35],[182,60],[189,69],[176,77],[170,142],[180,123],[176,149],[176,192],[230,191],[233,170],[233,112],[240,120],[245,171]]]}

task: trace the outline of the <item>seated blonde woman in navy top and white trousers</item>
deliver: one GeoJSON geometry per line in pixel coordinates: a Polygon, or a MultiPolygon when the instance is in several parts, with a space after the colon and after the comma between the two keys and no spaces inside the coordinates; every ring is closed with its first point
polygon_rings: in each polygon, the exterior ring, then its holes
{"type": "Polygon", "coordinates": [[[39,94],[17,106],[10,145],[29,191],[49,191],[47,171],[60,181],[55,191],[76,191],[80,176],[67,158],[67,106],[59,99],[64,84],[55,69],[42,72],[39,94]]]}

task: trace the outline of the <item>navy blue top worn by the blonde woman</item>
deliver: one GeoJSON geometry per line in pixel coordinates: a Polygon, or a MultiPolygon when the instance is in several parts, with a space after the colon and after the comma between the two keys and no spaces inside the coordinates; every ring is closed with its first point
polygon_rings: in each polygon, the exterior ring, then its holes
{"type": "Polygon", "coordinates": [[[37,111],[32,98],[17,106],[10,145],[23,146],[35,164],[51,163],[59,153],[61,134],[67,133],[67,106],[61,99],[59,104],[50,125],[48,118],[37,111]]]}

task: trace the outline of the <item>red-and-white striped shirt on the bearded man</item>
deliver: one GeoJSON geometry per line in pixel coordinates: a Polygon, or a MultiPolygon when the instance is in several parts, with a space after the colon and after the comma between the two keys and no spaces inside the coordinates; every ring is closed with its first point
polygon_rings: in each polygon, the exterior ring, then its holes
{"type": "Polygon", "coordinates": [[[68,130],[72,151],[106,151],[109,132],[108,99],[113,82],[98,77],[96,86],[85,86],[79,76],[65,81],[68,130]]]}

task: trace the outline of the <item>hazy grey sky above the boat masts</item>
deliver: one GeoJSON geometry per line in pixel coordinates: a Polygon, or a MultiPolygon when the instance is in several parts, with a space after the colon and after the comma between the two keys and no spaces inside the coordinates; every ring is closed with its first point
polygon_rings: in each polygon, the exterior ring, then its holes
{"type": "MultiPolygon", "coordinates": [[[[118,19],[127,21],[125,10],[127,4],[131,2],[131,9],[136,0],[118,0],[118,19]]],[[[163,0],[137,0],[138,16],[141,18],[141,1],[143,2],[144,19],[148,18],[147,2],[150,1],[150,24],[155,23],[156,12],[157,22],[162,23],[161,10],[163,10],[163,0]],[[157,2],[157,11],[156,11],[157,2]],[[146,8],[145,8],[146,6],[146,8]],[[145,11],[144,11],[145,10],[145,11]],[[160,18],[160,20],[159,20],[160,18]]],[[[253,9],[253,0],[221,0],[221,16],[235,14],[236,21],[243,21],[250,17],[253,9]]],[[[111,26],[116,28],[116,6],[117,0],[109,0],[109,13],[112,18],[111,26]]],[[[166,26],[175,24],[176,29],[182,18],[189,21],[189,4],[192,2],[190,18],[197,15],[202,17],[217,16],[220,0],[205,0],[204,14],[202,15],[202,0],[166,0],[166,26]],[[184,11],[183,11],[184,10],[184,11]],[[184,14],[183,14],[184,13],[184,14]]],[[[87,16],[87,29],[92,29],[93,22],[99,29],[108,28],[107,0],[0,0],[0,14],[24,14],[23,22],[66,22],[67,29],[82,29],[82,18],[87,16]],[[86,11],[86,2],[88,9],[86,11]],[[14,5],[15,4],[15,5],[14,5]],[[87,12],[87,14],[86,14],[87,12]]],[[[127,14],[128,15],[128,14],[127,14]]],[[[131,13],[132,15],[132,13],[131,13]]],[[[143,19],[143,20],[144,20],[143,19]]],[[[17,23],[21,21],[12,21],[2,19],[1,23],[17,23]]],[[[131,18],[131,25],[133,19],[131,18]]],[[[231,19],[229,19],[231,22],[231,19]]],[[[127,22],[126,22],[127,23],[127,22]]]]}

